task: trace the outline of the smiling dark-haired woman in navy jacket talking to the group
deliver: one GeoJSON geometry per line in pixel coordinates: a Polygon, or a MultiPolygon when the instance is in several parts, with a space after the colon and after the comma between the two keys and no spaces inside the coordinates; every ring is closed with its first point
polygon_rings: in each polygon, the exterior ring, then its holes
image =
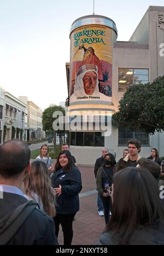
{"type": "Polygon", "coordinates": [[[54,218],[56,237],[61,224],[64,245],[69,246],[73,238],[73,218],[79,211],[79,193],[82,185],[81,174],[78,168],[73,165],[72,155],[68,150],[63,150],[59,154],[51,180],[52,188],[57,195],[57,214],[54,218]]]}

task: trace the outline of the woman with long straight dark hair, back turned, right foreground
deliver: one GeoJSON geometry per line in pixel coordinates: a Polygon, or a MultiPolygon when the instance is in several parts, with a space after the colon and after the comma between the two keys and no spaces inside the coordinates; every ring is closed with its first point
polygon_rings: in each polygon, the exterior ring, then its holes
{"type": "Polygon", "coordinates": [[[164,245],[164,208],[157,181],[143,168],[114,176],[112,217],[99,245],[164,245]]]}

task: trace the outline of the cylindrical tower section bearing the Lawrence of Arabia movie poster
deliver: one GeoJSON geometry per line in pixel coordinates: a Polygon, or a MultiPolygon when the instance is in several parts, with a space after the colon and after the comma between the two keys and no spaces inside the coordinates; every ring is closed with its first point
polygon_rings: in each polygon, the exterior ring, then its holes
{"type": "Polygon", "coordinates": [[[116,25],[105,16],[88,15],[73,22],[69,115],[79,111],[113,114],[112,67],[116,38],[116,25]]]}

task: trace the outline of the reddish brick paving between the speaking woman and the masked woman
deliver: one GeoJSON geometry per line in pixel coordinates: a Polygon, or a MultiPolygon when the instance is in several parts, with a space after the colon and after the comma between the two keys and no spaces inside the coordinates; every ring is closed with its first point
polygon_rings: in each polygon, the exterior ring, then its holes
{"type": "MultiPolygon", "coordinates": [[[[80,211],[73,222],[74,237],[72,245],[93,245],[99,241],[99,237],[105,228],[104,217],[97,213],[97,191],[93,167],[79,167],[83,190],[80,196],[80,211]]],[[[63,245],[63,233],[60,229],[58,242],[63,245]]]]}

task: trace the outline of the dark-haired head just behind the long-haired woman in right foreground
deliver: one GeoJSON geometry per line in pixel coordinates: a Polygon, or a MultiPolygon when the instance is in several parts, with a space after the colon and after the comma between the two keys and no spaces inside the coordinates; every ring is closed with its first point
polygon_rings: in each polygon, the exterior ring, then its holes
{"type": "Polygon", "coordinates": [[[137,161],[137,163],[138,163],[137,167],[139,168],[143,167],[147,169],[154,176],[154,178],[157,179],[157,181],[160,180],[161,168],[160,168],[160,165],[157,164],[157,162],[151,161],[150,159],[147,159],[147,158],[140,158],[137,161]]]}

